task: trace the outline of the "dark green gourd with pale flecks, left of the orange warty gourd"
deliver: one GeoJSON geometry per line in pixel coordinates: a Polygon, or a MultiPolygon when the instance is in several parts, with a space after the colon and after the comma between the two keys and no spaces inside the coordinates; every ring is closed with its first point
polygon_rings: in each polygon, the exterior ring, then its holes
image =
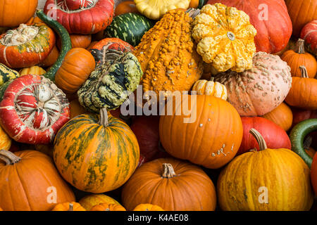
{"type": "Polygon", "coordinates": [[[111,25],[104,30],[105,37],[116,37],[137,46],[145,32],[154,26],[154,22],[144,15],[125,13],[113,18],[111,25]]]}

